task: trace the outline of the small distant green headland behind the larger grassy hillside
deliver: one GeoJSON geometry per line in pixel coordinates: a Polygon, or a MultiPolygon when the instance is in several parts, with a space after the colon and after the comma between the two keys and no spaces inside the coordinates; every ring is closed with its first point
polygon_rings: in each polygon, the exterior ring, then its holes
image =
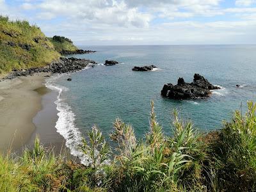
{"type": "Polygon", "coordinates": [[[77,51],[77,47],[73,44],[72,40],[65,38],[65,36],[53,36],[52,38],[49,38],[49,40],[58,52],[77,51]]]}

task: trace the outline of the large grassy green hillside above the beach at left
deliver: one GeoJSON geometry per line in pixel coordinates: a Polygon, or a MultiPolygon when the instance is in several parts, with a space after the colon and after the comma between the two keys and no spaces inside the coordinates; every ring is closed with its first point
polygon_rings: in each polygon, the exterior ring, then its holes
{"type": "Polygon", "coordinates": [[[60,58],[37,26],[0,16],[0,75],[13,69],[42,67],[60,58]]]}

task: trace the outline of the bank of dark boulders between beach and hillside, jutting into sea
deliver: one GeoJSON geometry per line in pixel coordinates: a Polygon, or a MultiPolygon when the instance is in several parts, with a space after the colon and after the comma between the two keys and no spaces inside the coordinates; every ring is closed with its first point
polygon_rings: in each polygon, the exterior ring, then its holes
{"type": "Polygon", "coordinates": [[[77,58],[60,58],[60,60],[53,61],[51,64],[45,67],[35,67],[26,70],[13,70],[8,76],[4,77],[4,79],[13,79],[20,76],[31,76],[32,74],[38,72],[51,72],[52,74],[75,72],[82,70],[89,63],[95,64],[95,61],[77,58]]]}

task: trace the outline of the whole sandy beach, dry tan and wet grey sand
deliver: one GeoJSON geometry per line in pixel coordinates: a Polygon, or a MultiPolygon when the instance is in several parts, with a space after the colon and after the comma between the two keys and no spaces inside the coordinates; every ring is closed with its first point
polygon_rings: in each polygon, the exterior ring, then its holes
{"type": "Polygon", "coordinates": [[[55,129],[56,93],[44,85],[47,75],[38,73],[0,82],[0,151],[30,147],[36,134],[47,146],[52,142],[63,145],[55,129]]]}

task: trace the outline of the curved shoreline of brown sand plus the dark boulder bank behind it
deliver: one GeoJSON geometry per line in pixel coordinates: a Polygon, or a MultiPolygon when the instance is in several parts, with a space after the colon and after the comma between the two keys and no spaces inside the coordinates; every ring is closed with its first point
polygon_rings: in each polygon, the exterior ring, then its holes
{"type": "Polygon", "coordinates": [[[60,153],[66,150],[65,136],[56,127],[58,94],[47,88],[46,77],[77,72],[95,61],[60,58],[42,68],[13,70],[0,80],[0,152],[20,152],[33,147],[36,134],[45,147],[60,153]]]}

